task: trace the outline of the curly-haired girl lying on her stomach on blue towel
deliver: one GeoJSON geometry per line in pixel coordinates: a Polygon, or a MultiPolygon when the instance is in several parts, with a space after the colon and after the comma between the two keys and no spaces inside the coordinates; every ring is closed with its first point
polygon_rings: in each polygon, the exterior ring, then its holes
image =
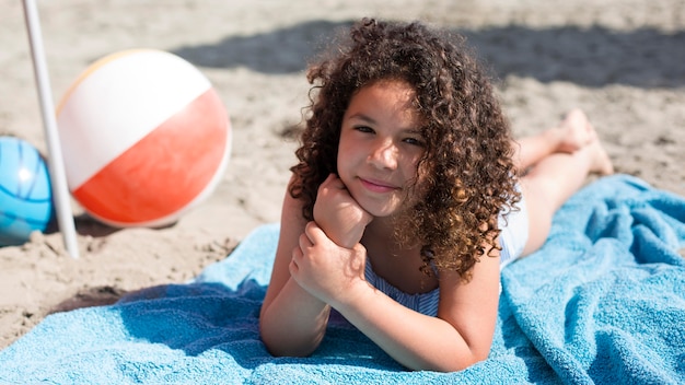
{"type": "Polygon", "coordinates": [[[307,72],[263,341],[307,355],[334,308],[409,369],[462,370],[488,357],[500,267],[611,161],[580,110],[512,144],[461,38],[364,19],[348,40],[307,72]]]}

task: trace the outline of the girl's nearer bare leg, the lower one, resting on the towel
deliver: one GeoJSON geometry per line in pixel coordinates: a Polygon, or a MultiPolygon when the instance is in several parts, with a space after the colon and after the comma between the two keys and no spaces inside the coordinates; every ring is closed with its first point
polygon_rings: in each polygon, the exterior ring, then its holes
{"type": "MultiPolygon", "coordinates": [[[[572,121],[567,118],[564,124],[581,125],[584,128],[589,126],[587,119],[578,118],[573,118],[572,121]]],[[[529,240],[523,255],[536,250],[545,243],[554,213],[584,184],[589,174],[608,175],[614,172],[612,161],[602,148],[596,133],[592,131],[590,142],[580,149],[543,156],[525,176],[521,177],[529,215],[529,240]]]]}

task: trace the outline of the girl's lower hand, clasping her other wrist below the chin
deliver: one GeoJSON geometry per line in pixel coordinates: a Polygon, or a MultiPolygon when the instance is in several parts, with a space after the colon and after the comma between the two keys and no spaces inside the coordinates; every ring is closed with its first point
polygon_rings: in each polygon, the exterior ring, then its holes
{"type": "Polygon", "coordinates": [[[353,288],[365,284],[367,250],[338,246],[316,222],[309,222],[292,250],[290,275],[310,294],[328,304],[346,302],[353,288]]]}

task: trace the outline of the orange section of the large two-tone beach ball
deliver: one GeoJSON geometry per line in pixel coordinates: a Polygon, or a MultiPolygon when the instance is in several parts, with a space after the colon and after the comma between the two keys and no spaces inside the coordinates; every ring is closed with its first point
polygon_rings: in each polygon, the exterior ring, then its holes
{"type": "Polygon", "coordinates": [[[220,168],[229,130],[225,109],[210,89],[73,196],[92,214],[111,222],[137,224],[171,215],[193,201],[220,168]]]}

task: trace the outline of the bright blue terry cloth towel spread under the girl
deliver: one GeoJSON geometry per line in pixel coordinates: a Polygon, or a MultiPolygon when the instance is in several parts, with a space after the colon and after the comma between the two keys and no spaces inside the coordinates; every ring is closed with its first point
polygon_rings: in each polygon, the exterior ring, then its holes
{"type": "Polygon", "coordinates": [[[601,178],[548,242],[502,271],[489,358],[408,372],[341,319],[309,358],[274,358],[258,314],[278,225],[256,229],[194,282],[46,317],[0,351],[0,383],[683,384],[685,198],[601,178]]]}

